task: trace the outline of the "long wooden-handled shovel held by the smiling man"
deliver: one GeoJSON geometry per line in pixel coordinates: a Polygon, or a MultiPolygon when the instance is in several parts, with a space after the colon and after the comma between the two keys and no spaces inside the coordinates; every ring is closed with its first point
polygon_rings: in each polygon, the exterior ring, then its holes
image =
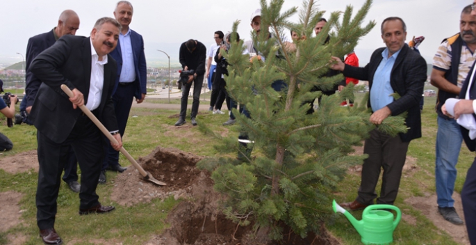
{"type": "MultiPolygon", "coordinates": [[[[69,97],[73,97],[73,92],[72,90],[70,90],[65,84],[61,85],[61,89],[69,96],[69,97]]],[[[79,106],[79,109],[81,109],[81,111],[83,111],[83,113],[86,114],[86,116],[88,116],[89,119],[92,120],[92,122],[95,123],[95,125],[97,127],[99,127],[99,129],[101,129],[101,132],[103,132],[104,135],[106,135],[106,137],[110,140],[110,142],[113,142],[113,143],[116,143],[117,144],[117,141],[114,139],[114,137],[110,134],[110,132],[108,131],[108,129],[106,129],[106,127],[104,127],[104,125],[102,125],[101,122],[99,122],[99,120],[97,120],[96,116],[88,109],[86,108],[85,105],[82,105],[82,106],[79,106]]],[[[134,166],[134,168],[136,168],[140,175],[142,175],[142,177],[144,177],[145,180],[148,180],[154,184],[158,184],[158,185],[167,185],[165,184],[164,182],[161,182],[159,180],[156,180],[156,178],[154,178],[154,176],[152,176],[149,172],[145,171],[144,168],[142,168],[135,159],[133,159],[131,157],[131,155],[129,155],[129,152],[126,151],[126,149],[124,149],[124,147],[121,147],[120,149],[120,152],[122,152],[122,154],[124,156],[126,156],[126,158],[131,162],[131,164],[134,166]]]]}

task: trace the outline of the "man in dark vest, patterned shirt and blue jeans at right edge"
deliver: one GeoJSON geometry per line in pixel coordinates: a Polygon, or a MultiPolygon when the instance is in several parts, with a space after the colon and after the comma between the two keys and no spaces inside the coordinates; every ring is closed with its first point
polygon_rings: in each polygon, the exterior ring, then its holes
{"type": "Polygon", "coordinates": [[[438,88],[436,113],[438,132],[436,134],[436,195],[438,212],[456,225],[463,221],[454,210],[452,198],[457,177],[456,164],[463,138],[454,118],[446,116],[441,106],[449,98],[459,95],[461,86],[476,60],[476,17],[471,15],[471,6],[463,8],[459,20],[459,33],[441,42],[433,58],[431,83],[438,88]]]}

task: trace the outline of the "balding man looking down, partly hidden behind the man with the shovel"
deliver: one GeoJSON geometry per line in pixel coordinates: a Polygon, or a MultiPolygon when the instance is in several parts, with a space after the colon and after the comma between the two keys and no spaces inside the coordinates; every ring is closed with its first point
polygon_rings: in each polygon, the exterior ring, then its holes
{"type": "MultiPolygon", "coordinates": [[[[74,35],[79,29],[79,17],[73,10],[64,10],[58,19],[58,25],[47,33],[35,35],[28,40],[28,46],[26,47],[26,84],[28,85],[25,90],[25,96],[20,104],[20,111],[26,108],[26,112],[30,113],[31,106],[35,100],[36,93],[42,81],[35,77],[30,71],[31,62],[38,54],[45,49],[54,45],[56,40],[63,35],[74,35]]],[[[69,189],[78,193],[81,189],[81,185],[78,183],[77,174],[77,161],[74,152],[69,149],[69,156],[65,164],[65,175],[63,175],[63,181],[68,184],[69,189]]]]}

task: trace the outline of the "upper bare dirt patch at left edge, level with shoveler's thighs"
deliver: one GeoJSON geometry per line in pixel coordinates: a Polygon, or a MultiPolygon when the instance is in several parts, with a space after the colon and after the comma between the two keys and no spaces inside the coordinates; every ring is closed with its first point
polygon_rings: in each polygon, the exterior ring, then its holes
{"type": "Polygon", "coordinates": [[[28,172],[31,168],[38,172],[38,154],[36,150],[21,152],[17,155],[1,157],[0,168],[6,173],[28,172]]]}

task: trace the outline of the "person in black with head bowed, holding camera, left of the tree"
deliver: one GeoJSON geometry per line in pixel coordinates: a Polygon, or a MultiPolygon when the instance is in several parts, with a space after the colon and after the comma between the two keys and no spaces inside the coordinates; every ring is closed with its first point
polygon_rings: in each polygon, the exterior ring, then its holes
{"type": "Polygon", "coordinates": [[[205,60],[206,60],[206,47],[197,40],[190,39],[187,42],[183,42],[180,46],[179,61],[184,71],[194,70],[193,74],[188,75],[188,81],[183,86],[181,106],[180,106],[180,118],[175,122],[175,126],[180,126],[186,123],[185,116],[187,113],[188,93],[193,83],[193,104],[192,104],[192,125],[197,125],[195,117],[197,116],[198,106],[200,104],[200,90],[202,90],[202,84],[204,82],[205,74],[205,60]]]}

